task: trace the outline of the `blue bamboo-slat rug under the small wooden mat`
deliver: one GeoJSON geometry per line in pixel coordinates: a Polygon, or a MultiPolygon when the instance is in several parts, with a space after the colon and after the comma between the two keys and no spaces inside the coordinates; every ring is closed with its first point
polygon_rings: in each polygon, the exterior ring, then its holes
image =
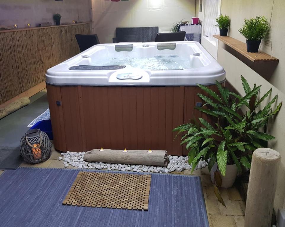
{"type": "Polygon", "coordinates": [[[152,174],[148,211],[141,211],[62,205],[78,173],[23,167],[5,171],[0,176],[1,226],[209,226],[198,176],[152,174]]]}

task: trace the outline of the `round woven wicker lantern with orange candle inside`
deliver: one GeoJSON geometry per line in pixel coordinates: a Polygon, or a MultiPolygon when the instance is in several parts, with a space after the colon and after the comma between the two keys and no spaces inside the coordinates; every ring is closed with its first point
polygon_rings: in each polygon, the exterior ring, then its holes
{"type": "Polygon", "coordinates": [[[20,154],[26,163],[36,164],[49,159],[52,143],[45,132],[30,129],[21,138],[20,154]]]}

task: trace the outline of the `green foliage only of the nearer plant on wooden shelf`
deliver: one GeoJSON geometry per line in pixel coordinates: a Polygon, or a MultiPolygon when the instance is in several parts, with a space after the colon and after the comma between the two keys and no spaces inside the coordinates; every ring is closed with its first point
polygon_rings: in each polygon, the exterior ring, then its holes
{"type": "Polygon", "coordinates": [[[269,24],[264,16],[244,19],[243,27],[238,30],[247,40],[262,40],[268,33],[269,24]]]}

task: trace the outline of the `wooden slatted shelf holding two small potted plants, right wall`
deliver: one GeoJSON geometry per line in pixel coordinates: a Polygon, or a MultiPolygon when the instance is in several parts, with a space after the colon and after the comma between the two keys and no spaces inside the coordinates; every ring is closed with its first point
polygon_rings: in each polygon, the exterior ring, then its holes
{"type": "Polygon", "coordinates": [[[246,43],[243,43],[237,39],[234,39],[230,36],[220,36],[220,35],[213,35],[214,38],[222,41],[226,45],[230,46],[234,50],[241,53],[243,56],[248,58],[250,61],[257,62],[257,61],[279,61],[277,58],[270,56],[267,53],[259,51],[257,53],[249,53],[246,51],[246,43]]]}

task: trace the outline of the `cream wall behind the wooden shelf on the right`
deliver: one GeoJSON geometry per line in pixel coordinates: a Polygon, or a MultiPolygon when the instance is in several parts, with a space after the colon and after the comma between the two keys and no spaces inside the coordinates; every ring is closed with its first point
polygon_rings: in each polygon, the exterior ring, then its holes
{"type": "MultiPolygon", "coordinates": [[[[242,26],[244,18],[255,17],[256,15],[264,15],[270,19],[273,0],[222,0],[221,13],[227,14],[231,18],[231,25],[228,35],[245,42],[245,38],[238,33],[238,29],[242,26]]],[[[277,189],[274,201],[274,209],[277,212],[278,208],[284,207],[285,198],[285,1],[275,0],[273,7],[273,16],[271,20],[271,35],[272,35],[272,50],[273,56],[279,59],[279,64],[273,71],[274,67],[270,63],[250,63],[245,64],[242,57],[236,57],[235,51],[219,43],[217,61],[224,67],[227,73],[227,80],[234,85],[236,90],[244,95],[240,76],[243,75],[248,80],[251,86],[256,83],[262,85],[261,94],[263,95],[267,90],[273,87],[272,95],[278,94],[278,103],[283,101],[281,111],[278,113],[276,119],[268,125],[268,133],[276,137],[268,143],[270,148],[277,150],[281,154],[281,164],[277,176],[277,189]],[[264,79],[256,72],[256,69],[263,69],[264,79]],[[255,70],[254,70],[255,69],[255,70]],[[267,72],[268,71],[268,72],[267,72]],[[273,71],[273,72],[271,72],[273,71]]],[[[271,55],[270,42],[262,45],[262,50],[271,55]]],[[[262,72],[260,72],[262,73],[262,72]]],[[[268,100],[267,100],[268,101],[268,100]]],[[[266,179],[264,179],[266,180],[266,179]]],[[[285,208],[285,207],[284,207],[285,208]]]]}

